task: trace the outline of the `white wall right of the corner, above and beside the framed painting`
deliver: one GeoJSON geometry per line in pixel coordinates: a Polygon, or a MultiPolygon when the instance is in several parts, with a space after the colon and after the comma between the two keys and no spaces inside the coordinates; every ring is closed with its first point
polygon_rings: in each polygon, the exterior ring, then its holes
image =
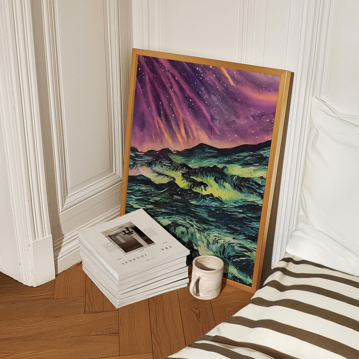
{"type": "Polygon", "coordinates": [[[356,0],[133,1],[134,47],[275,67],[294,73],[272,264],[299,205],[312,95],[358,113],[356,0]],[[356,35],[354,35],[356,34],[356,35]]]}

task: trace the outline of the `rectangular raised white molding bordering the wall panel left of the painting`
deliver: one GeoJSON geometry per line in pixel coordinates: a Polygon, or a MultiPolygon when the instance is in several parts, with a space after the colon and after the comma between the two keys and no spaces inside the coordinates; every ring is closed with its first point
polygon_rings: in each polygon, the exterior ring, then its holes
{"type": "Polygon", "coordinates": [[[44,0],[43,11],[45,21],[45,44],[47,53],[47,69],[48,69],[48,87],[51,108],[51,120],[53,131],[53,149],[56,164],[57,179],[57,196],[59,204],[59,213],[69,210],[84,200],[92,196],[96,196],[99,192],[109,188],[114,182],[121,182],[120,158],[122,153],[122,126],[118,123],[122,122],[119,113],[119,99],[121,98],[121,88],[118,81],[120,74],[120,57],[117,53],[118,31],[118,9],[117,1],[108,0],[106,4],[107,12],[104,14],[107,18],[107,56],[109,57],[109,87],[111,89],[111,103],[109,104],[109,136],[112,143],[110,149],[110,168],[104,173],[98,174],[94,178],[90,178],[84,183],[77,186],[70,186],[69,168],[67,159],[69,153],[66,148],[66,131],[65,118],[63,111],[63,90],[61,88],[61,59],[59,58],[59,37],[57,32],[57,13],[56,0],[44,0]]]}

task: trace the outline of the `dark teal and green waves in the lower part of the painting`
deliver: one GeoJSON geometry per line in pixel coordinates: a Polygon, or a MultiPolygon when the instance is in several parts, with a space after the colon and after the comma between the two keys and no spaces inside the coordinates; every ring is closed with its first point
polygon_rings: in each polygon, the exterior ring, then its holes
{"type": "Polygon", "coordinates": [[[143,208],[190,249],[190,265],[216,255],[225,277],[250,285],[269,150],[270,141],[145,153],[132,147],[126,213],[143,208]]]}

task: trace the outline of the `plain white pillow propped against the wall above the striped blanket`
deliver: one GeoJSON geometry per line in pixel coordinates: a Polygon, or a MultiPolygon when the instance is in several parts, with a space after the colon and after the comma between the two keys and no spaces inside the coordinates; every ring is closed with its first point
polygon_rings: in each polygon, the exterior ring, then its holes
{"type": "Polygon", "coordinates": [[[359,276],[358,116],[313,98],[292,255],[359,276]]]}

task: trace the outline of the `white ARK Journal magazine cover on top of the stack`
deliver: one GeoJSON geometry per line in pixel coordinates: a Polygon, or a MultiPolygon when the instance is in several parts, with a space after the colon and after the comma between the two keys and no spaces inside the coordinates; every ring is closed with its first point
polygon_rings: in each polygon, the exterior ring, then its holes
{"type": "Polygon", "coordinates": [[[189,254],[143,209],[81,229],[79,241],[117,280],[189,254]]]}

